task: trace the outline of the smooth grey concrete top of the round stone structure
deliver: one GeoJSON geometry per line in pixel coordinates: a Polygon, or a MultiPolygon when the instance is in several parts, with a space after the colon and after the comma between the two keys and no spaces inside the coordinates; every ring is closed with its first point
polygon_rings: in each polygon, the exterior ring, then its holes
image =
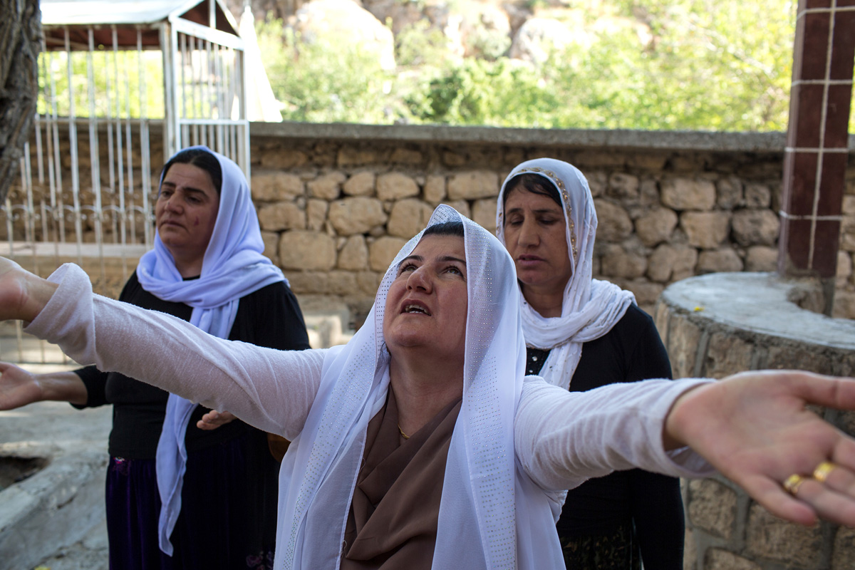
{"type": "Polygon", "coordinates": [[[855,351],[855,320],[833,319],[789,300],[803,284],[776,273],[709,273],[669,285],[662,301],[723,326],[855,351]]]}

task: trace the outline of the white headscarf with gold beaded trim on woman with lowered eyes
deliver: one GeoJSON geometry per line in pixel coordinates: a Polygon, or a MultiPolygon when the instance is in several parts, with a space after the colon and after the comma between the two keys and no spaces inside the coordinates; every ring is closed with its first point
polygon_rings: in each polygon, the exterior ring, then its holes
{"type": "Polygon", "coordinates": [[[542,376],[565,390],[570,385],[582,355],[582,343],[602,337],[626,314],[635,297],[609,281],[592,279],[593,240],[597,233],[597,212],[593,207],[587,179],[567,162],[537,158],[522,162],[510,171],[498,193],[496,235],[504,244],[504,189],[511,179],[531,173],[555,186],[566,220],[567,251],[573,275],[564,288],[560,317],[543,317],[532,309],[520,290],[522,332],[528,346],[550,350],[542,376]]]}

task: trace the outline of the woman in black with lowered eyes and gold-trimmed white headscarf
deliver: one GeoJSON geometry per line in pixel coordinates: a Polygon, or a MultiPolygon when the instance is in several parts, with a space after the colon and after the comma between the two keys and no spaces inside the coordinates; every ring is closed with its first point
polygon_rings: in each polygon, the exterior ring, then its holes
{"type": "MultiPolygon", "coordinates": [[[[588,391],[670,378],[668,353],[629,291],[592,279],[597,213],[587,179],[551,158],[522,162],[504,180],[496,228],[520,285],[526,373],[588,391]]],[[[557,522],[567,567],[681,570],[680,481],[640,469],[568,492],[557,522]]]]}

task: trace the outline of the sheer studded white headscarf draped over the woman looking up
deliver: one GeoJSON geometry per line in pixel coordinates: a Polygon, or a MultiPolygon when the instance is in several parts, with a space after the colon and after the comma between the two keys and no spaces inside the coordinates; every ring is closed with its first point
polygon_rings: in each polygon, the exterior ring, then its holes
{"type": "MultiPolygon", "coordinates": [[[[496,238],[454,209],[439,206],[428,226],[457,220],[469,296],[463,403],[445,465],[433,568],[563,568],[551,510],[557,504],[522,473],[514,453],[525,366],[514,264],[496,238]]],[[[421,238],[392,261],[365,325],[324,359],[315,403],[282,461],[277,569],[339,567],[366,430],[389,390],[386,294],[421,238]]]]}

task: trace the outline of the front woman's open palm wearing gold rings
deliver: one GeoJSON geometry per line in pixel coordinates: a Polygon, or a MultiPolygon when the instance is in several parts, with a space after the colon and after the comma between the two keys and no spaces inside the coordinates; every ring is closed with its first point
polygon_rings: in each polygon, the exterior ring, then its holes
{"type": "Polygon", "coordinates": [[[666,446],[691,446],[776,516],[855,526],[855,440],[807,404],[855,409],[855,379],[764,371],[700,386],[671,408],[666,446]],[[823,461],[834,468],[815,478],[823,461]]]}

